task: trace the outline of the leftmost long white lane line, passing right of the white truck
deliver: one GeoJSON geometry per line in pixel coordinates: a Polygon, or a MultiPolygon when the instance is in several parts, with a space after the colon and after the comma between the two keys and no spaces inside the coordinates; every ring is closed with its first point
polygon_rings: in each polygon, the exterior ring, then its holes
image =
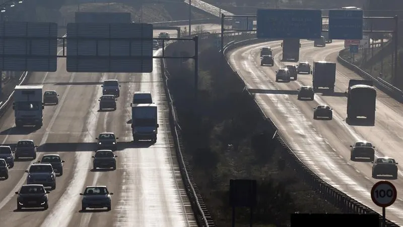
{"type": "MultiPolygon", "coordinates": [[[[71,76],[69,83],[72,83],[72,82],[73,82],[74,76],[75,76],[75,73],[73,73],[73,75],[71,76]]],[[[59,104],[57,105],[56,111],[55,111],[55,113],[54,113],[54,115],[53,115],[53,117],[52,117],[52,121],[50,121],[49,125],[46,127],[46,132],[51,131],[51,129],[52,129],[52,127],[53,127],[53,124],[54,124],[54,122],[55,122],[53,119],[56,119],[56,118],[57,118],[57,115],[59,114],[60,109],[61,109],[61,107],[63,106],[64,100],[65,100],[65,98],[66,98],[66,96],[67,96],[67,93],[68,93],[70,87],[71,87],[71,85],[69,85],[69,86],[66,88],[66,92],[64,92],[63,96],[61,97],[60,102],[59,102],[59,104]]],[[[48,135],[49,135],[48,133],[47,133],[47,134],[45,133],[45,135],[42,137],[42,140],[41,140],[40,144],[44,144],[44,143],[46,142],[46,139],[47,139],[48,135]],[[44,139],[44,138],[46,138],[46,139],[44,139]]],[[[36,158],[35,160],[33,160],[32,162],[38,161],[38,158],[39,158],[39,156],[37,156],[37,158],[36,158]]],[[[19,182],[17,183],[17,185],[13,188],[13,190],[10,192],[10,194],[8,194],[8,195],[6,196],[6,198],[4,198],[4,199],[2,200],[2,202],[0,202],[0,209],[2,209],[2,208],[14,197],[15,192],[20,190],[20,188],[21,188],[21,186],[24,184],[25,180],[26,180],[26,174],[24,174],[24,175],[21,177],[20,181],[19,181],[19,182]]],[[[57,184],[57,183],[56,183],[56,184],[57,184]]]]}

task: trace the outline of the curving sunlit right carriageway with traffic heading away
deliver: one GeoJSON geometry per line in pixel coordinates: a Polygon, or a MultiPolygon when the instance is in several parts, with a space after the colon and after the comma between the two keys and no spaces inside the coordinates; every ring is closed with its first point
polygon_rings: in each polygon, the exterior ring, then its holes
{"type": "MultiPolygon", "coordinates": [[[[381,213],[371,200],[370,190],[379,180],[371,176],[370,162],[350,160],[350,145],[356,140],[367,140],[376,146],[376,156],[394,157],[399,169],[403,166],[403,104],[377,90],[375,126],[349,126],[347,98],[344,91],[350,79],[362,79],[354,72],[337,64],[334,94],[315,93],[314,101],[297,100],[297,89],[302,85],[312,86],[312,75],[298,75],[297,81],[275,82],[275,71],[287,63],[281,62],[281,41],[259,43],[230,51],[227,58],[231,66],[243,78],[265,114],[279,127],[287,143],[324,181],[347,193],[359,202],[381,213]],[[271,46],[275,57],[274,67],[260,66],[260,48],[271,46]],[[313,109],[318,104],[333,108],[333,120],[313,120],[313,109]]],[[[312,41],[301,40],[300,61],[326,60],[337,63],[343,40],[333,40],[326,47],[313,47],[312,41]]],[[[403,175],[391,182],[397,189],[403,188],[403,175]]],[[[403,224],[403,196],[397,194],[396,202],[386,208],[386,218],[403,224]]]]}

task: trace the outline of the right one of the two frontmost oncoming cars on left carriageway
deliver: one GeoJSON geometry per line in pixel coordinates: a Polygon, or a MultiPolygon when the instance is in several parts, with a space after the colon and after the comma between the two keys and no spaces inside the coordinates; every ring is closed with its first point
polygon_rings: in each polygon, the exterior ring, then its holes
{"type": "Polygon", "coordinates": [[[80,193],[83,196],[81,200],[81,210],[87,208],[104,208],[111,210],[112,206],[112,192],[109,192],[106,186],[87,186],[84,193],[80,193]]]}

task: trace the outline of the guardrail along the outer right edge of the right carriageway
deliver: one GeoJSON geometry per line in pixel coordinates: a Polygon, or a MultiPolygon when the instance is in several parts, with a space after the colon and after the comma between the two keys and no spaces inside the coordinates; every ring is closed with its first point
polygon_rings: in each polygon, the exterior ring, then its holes
{"type": "Polygon", "coordinates": [[[385,94],[391,96],[392,98],[396,99],[397,101],[403,102],[403,91],[398,89],[397,87],[393,86],[389,82],[385,81],[384,79],[380,77],[373,77],[371,74],[365,72],[364,70],[360,69],[358,66],[349,63],[348,61],[344,60],[342,58],[342,54],[346,53],[348,50],[343,49],[339,51],[339,55],[337,57],[337,60],[340,64],[342,64],[344,67],[348,68],[349,70],[357,73],[361,77],[367,79],[367,80],[372,80],[374,81],[374,85],[381,91],[383,91],[385,94]]]}

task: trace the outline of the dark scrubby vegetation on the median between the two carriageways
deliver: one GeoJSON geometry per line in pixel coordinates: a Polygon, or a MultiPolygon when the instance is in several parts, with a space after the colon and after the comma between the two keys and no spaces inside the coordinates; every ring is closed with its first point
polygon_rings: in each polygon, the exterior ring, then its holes
{"type": "MultiPolygon", "coordinates": [[[[166,60],[168,86],[178,112],[196,184],[217,226],[231,223],[230,179],[256,179],[255,226],[281,226],[293,212],[340,212],[319,198],[284,164],[244,85],[218,53],[214,38],[199,44],[199,90],[194,99],[191,60],[166,60]]],[[[193,45],[171,44],[166,55],[192,52],[193,45]]],[[[247,209],[237,209],[237,226],[248,224],[247,209]]]]}

